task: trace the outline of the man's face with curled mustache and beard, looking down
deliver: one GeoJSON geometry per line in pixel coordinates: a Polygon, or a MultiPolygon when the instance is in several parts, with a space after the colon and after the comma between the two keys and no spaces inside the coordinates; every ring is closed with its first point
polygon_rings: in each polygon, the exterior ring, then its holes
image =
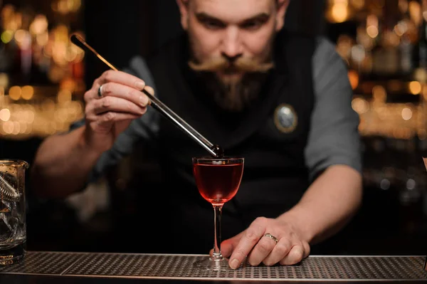
{"type": "Polygon", "coordinates": [[[273,67],[273,38],[283,27],[288,1],[178,0],[178,4],[194,70],[215,73],[235,93],[241,92],[237,89],[243,75],[273,67]]]}

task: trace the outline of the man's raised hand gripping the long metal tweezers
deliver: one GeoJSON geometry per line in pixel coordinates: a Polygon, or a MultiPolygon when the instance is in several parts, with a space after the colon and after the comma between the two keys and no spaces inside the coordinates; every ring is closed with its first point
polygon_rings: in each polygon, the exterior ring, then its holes
{"type": "Polygon", "coordinates": [[[101,152],[110,149],[130,122],[147,111],[144,88],[154,95],[143,80],[122,71],[108,70],[97,78],[85,93],[86,144],[101,152]]]}

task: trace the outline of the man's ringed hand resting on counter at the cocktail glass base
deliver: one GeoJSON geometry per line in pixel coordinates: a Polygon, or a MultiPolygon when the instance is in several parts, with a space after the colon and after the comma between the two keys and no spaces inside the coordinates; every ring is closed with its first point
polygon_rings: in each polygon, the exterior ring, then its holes
{"type": "Polygon", "coordinates": [[[246,257],[253,266],[260,263],[292,265],[310,254],[310,245],[302,239],[302,232],[291,220],[259,217],[245,231],[223,241],[221,252],[230,258],[229,265],[233,269],[246,257]],[[277,238],[277,243],[265,236],[267,233],[277,238]]]}

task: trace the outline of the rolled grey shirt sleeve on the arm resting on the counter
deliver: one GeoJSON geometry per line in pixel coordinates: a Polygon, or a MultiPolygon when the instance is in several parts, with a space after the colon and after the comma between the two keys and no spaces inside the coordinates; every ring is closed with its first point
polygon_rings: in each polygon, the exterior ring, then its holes
{"type": "Polygon", "coordinates": [[[359,115],[352,109],[346,65],[326,38],[318,38],[312,63],[315,105],[305,149],[310,180],[334,164],[362,172],[359,115]]]}

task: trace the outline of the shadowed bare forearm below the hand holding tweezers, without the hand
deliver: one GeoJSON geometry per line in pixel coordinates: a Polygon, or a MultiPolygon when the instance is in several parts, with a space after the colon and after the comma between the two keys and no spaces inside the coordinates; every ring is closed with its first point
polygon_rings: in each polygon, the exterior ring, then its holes
{"type": "Polygon", "coordinates": [[[39,196],[64,197],[84,186],[100,153],[83,140],[84,126],[46,138],[36,153],[31,187],[39,196]]]}

